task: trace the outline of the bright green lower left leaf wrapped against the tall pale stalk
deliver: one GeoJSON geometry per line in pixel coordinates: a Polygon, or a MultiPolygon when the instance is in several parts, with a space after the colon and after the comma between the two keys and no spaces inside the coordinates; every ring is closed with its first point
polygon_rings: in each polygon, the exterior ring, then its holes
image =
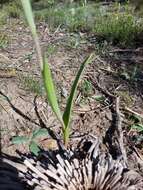
{"type": "Polygon", "coordinates": [[[57,102],[56,91],[55,91],[54,83],[52,80],[52,74],[50,71],[50,67],[49,67],[46,55],[44,56],[44,65],[43,65],[42,74],[43,74],[44,86],[45,86],[45,90],[46,90],[46,94],[47,94],[47,98],[50,103],[50,106],[52,107],[52,110],[56,114],[58,120],[62,123],[62,126],[64,126],[62,114],[57,102]]]}

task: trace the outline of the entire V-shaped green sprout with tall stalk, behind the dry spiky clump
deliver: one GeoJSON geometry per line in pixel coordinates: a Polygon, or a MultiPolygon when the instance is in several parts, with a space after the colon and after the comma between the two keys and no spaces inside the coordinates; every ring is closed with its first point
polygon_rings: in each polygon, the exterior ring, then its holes
{"type": "Polygon", "coordinates": [[[58,105],[55,86],[53,83],[52,74],[51,74],[50,66],[48,64],[47,57],[46,57],[45,52],[42,52],[40,48],[30,0],[21,0],[21,2],[22,2],[25,16],[29,24],[34,42],[35,42],[37,56],[39,59],[39,66],[41,68],[41,73],[44,80],[44,86],[45,86],[45,90],[47,94],[47,99],[57,119],[60,121],[62,125],[63,139],[64,139],[65,146],[67,146],[68,141],[69,141],[69,134],[70,134],[69,126],[70,126],[70,121],[71,121],[71,111],[72,111],[73,101],[76,94],[76,89],[77,89],[79,80],[81,78],[81,75],[84,71],[85,66],[88,63],[90,63],[92,60],[92,54],[88,56],[81,64],[79,71],[76,75],[76,78],[74,80],[74,83],[72,85],[71,92],[67,100],[66,108],[64,110],[64,113],[62,114],[58,105]]]}

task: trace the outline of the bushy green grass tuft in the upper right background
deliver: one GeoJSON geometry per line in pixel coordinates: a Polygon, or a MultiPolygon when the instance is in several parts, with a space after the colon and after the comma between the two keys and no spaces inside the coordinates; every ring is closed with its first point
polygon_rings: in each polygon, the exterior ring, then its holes
{"type": "Polygon", "coordinates": [[[132,46],[142,32],[142,22],[138,22],[131,14],[112,13],[98,17],[93,31],[113,45],[132,46]]]}

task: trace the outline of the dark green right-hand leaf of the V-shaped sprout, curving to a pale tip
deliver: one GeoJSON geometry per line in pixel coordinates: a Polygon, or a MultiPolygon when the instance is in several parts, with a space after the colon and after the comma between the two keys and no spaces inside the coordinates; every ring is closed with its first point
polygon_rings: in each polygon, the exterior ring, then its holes
{"type": "MultiPolygon", "coordinates": [[[[65,108],[65,111],[64,111],[64,114],[63,114],[63,121],[64,121],[64,124],[65,124],[65,131],[64,131],[64,139],[67,138],[67,136],[69,136],[69,132],[67,132],[66,130],[68,130],[68,127],[69,127],[69,123],[70,123],[70,117],[71,117],[71,110],[72,110],[72,106],[73,106],[73,101],[74,101],[74,97],[75,97],[75,93],[76,93],[76,89],[77,89],[77,86],[78,86],[78,83],[79,83],[79,80],[81,78],[81,75],[84,71],[84,68],[85,66],[91,62],[91,58],[92,58],[92,54],[87,57],[84,62],[81,64],[80,66],[80,69],[76,75],[76,78],[74,80],[74,83],[72,85],[72,88],[71,88],[71,92],[70,92],[70,95],[69,95],[69,98],[67,100],[67,104],[66,104],[66,108],[65,108]]],[[[68,130],[69,131],[69,130],[68,130]]]]}

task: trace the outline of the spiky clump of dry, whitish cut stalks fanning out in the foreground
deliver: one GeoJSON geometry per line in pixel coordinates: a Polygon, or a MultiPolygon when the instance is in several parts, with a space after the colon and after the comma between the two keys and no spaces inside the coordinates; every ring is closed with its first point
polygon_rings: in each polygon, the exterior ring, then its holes
{"type": "Polygon", "coordinates": [[[42,151],[38,158],[22,155],[22,159],[23,164],[13,163],[19,172],[20,186],[17,185],[16,175],[14,178],[14,171],[4,172],[5,175],[1,171],[1,190],[6,190],[3,184],[7,181],[10,181],[7,190],[21,190],[22,183],[26,184],[27,189],[35,190],[143,189],[143,178],[129,170],[122,158],[113,160],[109,153],[103,152],[98,138],[88,136],[73,150],[42,151]],[[15,189],[11,186],[12,181],[15,189]]]}

